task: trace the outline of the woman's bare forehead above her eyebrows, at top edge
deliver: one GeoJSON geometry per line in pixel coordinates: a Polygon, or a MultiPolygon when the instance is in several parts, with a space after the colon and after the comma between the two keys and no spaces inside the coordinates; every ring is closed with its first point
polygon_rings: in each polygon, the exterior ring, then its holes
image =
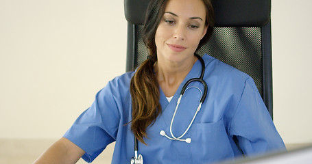
{"type": "Polygon", "coordinates": [[[178,16],[205,18],[206,8],[202,0],[169,0],[165,12],[173,12],[178,16]]]}

